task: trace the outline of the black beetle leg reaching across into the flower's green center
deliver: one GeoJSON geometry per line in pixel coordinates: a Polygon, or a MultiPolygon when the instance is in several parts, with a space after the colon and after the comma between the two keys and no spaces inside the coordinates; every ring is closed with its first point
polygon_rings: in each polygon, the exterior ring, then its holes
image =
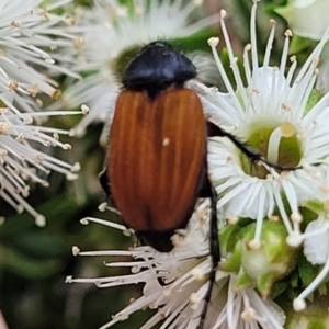
{"type": "MultiPolygon", "coordinates": [[[[285,167],[285,166],[280,166],[277,163],[266,160],[265,157],[263,157],[259,151],[257,151],[254,148],[249,146],[247,143],[241,141],[235,135],[225,132],[219,126],[216,126],[211,122],[207,122],[207,136],[208,137],[227,137],[239,150],[241,150],[241,152],[243,152],[251,160],[251,162],[262,162],[262,163],[265,163],[266,166],[277,169],[280,171],[292,171],[292,170],[302,169],[302,166],[285,167]]],[[[315,163],[315,164],[317,164],[317,163],[315,163]]]]}

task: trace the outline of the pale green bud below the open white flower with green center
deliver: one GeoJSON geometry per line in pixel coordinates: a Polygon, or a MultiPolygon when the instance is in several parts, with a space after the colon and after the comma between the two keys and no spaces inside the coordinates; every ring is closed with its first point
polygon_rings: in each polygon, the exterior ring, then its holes
{"type": "Polygon", "coordinates": [[[287,232],[281,222],[265,220],[261,241],[253,238],[254,230],[256,223],[240,230],[234,251],[223,269],[238,272],[237,288],[256,285],[265,298],[273,283],[292,270],[296,249],[286,245],[287,232]]]}

